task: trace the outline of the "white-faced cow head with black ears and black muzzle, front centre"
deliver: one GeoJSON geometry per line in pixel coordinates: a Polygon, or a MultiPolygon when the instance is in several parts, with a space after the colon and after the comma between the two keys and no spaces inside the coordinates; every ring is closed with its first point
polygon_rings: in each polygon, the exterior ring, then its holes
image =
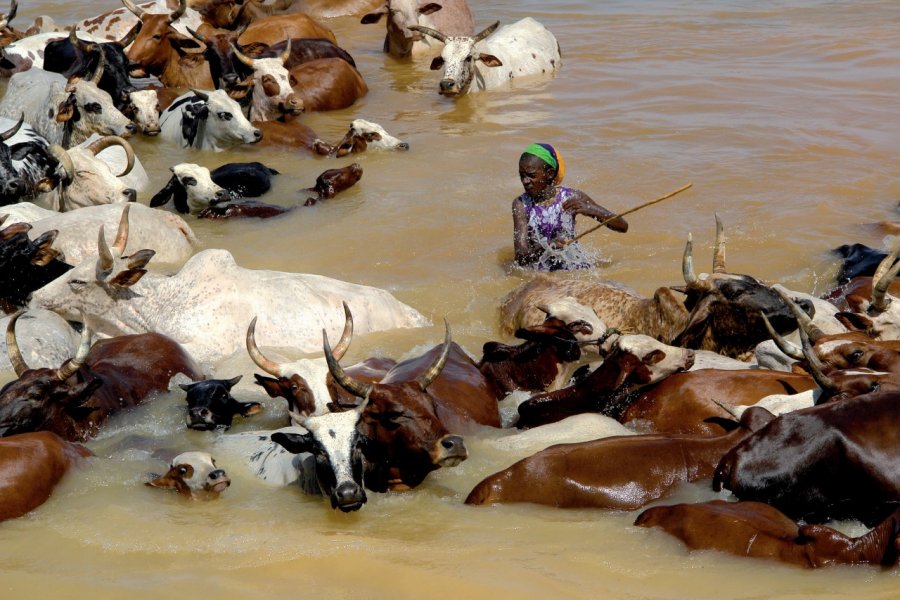
{"type": "Polygon", "coordinates": [[[272,441],[289,452],[309,452],[315,460],[316,480],[331,507],[343,512],[359,510],[366,503],[363,483],[363,448],[366,438],[357,431],[366,402],[352,410],[326,413],[297,420],[305,434],[272,434],[272,441]]]}

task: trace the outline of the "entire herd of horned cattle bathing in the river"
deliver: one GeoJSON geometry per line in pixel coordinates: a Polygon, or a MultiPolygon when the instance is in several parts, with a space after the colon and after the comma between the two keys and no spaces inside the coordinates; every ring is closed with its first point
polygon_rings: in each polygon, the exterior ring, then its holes
{"type": "MultiPolygon", "coordinates": [[[[367,490],[409,490],[464,461],[465,435],[517,426],[505,439],[530,455],[487,476],[466,503],[653,503],[636,524],[691,548],[806,567],[896,564],[897,251],[849,258],[874,269],[818,298],[728,272],[717,219],[712,273],[695,273],[689,239],[684,285],[652,298],[536,275],[501,306],[501,330],[518,345],[487,342],[474,359],[445,323],[444,342],[419,356],[345,366],[354,333],[427,319],[377,288],[245,269],[225,250],[195,254],[187,223],[157,207],[273,216],[285,209],[244,198],[264,194],[278,173],[259,163],[212,172],[174,165],[148,207],[134,202],[147,176],[125,138],[210,150],[289,144],[332,156],[407,148],[362,119],[328,144],[297,118],[367,91],[322,25],[335,11],[364,14],[362,23],[386,18],[384,51],[433,58],[446,96],[554,72],[555,38],[533,19],[475,34],[465,0],[122,2],[67,30],[47,17],[14,29],[15,0],[0,18],[0,75],[9,77],[0,101],[9,363],[0,368],[16,375],[0,390],[0,520],[44,502],[90,455],[80,442],[116,412],[169,390],[176,374],[192,381],[181,384],[191,429],[224,430],[259,413],[260,403],[232,396],[240,376],[207,377],[210,365],[246,351],[265,372],[256,384],[286,400],[287,416],[277,431],[222,436],[222,452],[270,484],[299,484],[345,512],[362,508],[367,490]],[[161,85],[132,83],[150,76],[161,85]],[[183,267],[149,273],[154,257],[183,267]],[[322,356],[278,362],[258,339],[322,356]],[[533,395],[504,418],[511,392],[533,395]],[[688,482],[738,501],[659,504],[688,482]],[[853,538],[826,524],[845,519],[871,530],[853,538]]],[[[361,174],[358,165],[326,171],[307,203],[361,174]]],[[[214,498],[230,479],[209,454],[187,451],[148,485],[214,498]]]]}

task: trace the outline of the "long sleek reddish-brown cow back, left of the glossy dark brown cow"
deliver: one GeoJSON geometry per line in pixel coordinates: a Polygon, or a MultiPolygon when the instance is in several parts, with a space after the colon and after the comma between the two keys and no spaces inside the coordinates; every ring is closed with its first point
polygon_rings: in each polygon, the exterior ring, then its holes
{"type": "Polygon", "coordinates": [[[772,418],[751,409],[731,432],[715,437],[648,434],[551,446],[486,478],[466,504],[634,510],[684,482],[711,478],[728,450],[772,418]]]}

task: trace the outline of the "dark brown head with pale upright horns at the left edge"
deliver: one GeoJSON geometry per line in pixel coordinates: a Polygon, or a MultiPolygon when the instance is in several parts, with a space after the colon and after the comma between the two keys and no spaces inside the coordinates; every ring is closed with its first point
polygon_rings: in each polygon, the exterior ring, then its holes
{"type": "Polygon", "coordinates": [[[95,410],[85,406],[102,380],[81,370],[91,349],[91,332],[82,330],[81,345],[58,369],[29,369],[16,342],[16,313],[6,328],[9,361],[18,379],[0,389],[0,437],[28,431],[52,431],[66,439],[80,437],[79,423],[95,410]]]}

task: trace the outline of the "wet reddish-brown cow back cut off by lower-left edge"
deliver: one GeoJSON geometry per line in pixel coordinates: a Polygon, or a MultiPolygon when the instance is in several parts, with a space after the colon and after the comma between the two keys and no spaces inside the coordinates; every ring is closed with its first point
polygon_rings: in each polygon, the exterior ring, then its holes
{"type": "Polygon", "coordinates": [[[0,521],[46,502],[69,468],[87,456],[90,450],[49,431],[0,439],[0,521]]]}

